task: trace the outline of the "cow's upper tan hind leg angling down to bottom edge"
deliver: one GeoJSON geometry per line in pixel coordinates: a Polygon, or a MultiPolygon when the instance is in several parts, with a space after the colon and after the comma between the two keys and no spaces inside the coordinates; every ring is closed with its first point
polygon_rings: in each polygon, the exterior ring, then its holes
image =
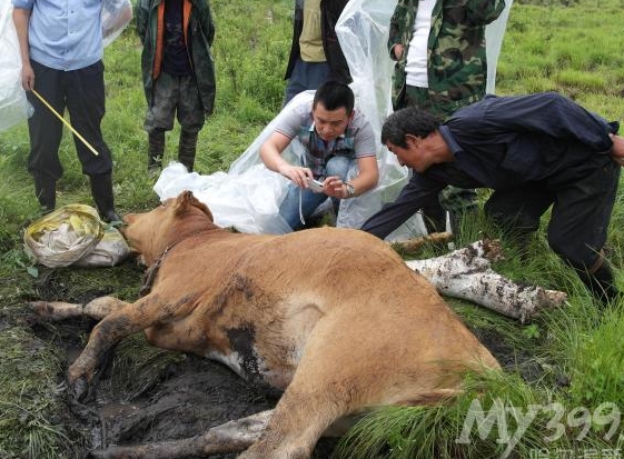
{"type": "Polygon", "coordinates": [[[350,346],[338,329],[317,325],[266,431],[239,459],[307,459],[330,426],[359,410],[375,376],[359,371],[366,346],[350,346]]]}

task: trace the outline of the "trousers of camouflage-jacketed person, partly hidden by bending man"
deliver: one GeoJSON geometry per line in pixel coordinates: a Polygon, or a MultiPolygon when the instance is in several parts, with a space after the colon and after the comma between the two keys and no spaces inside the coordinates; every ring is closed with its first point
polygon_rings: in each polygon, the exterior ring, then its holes
{"type": "MultiPolygon", "coordinates": [[[[427,88],[417,88],[414,86],[406,86],[405,107],[418,107],[443,120],[453,114],[447,108],[432,100],[427,88]]],[[[448,186],[439,192],[438,199],[442,207],[452,214],[462,213],[465,210],[473,210],[477,206],[477,192],[473,189],[448,186]]]]}

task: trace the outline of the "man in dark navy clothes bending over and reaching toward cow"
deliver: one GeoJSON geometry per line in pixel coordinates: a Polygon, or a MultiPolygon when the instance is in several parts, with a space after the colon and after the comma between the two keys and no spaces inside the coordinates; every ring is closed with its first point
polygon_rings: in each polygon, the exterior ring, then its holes
{"type": "Polygon", "coordinates": [[[385,238],[448,184],[491,188],[485,212],[521,240],[552,206],[548,245],[596,297],[613,300],[603,247],[624,166],[617,129],[554,92],[487,96],[442,124],[418,108],[398,110],[382,142],[414,173],[361,229],[385,238]]]}

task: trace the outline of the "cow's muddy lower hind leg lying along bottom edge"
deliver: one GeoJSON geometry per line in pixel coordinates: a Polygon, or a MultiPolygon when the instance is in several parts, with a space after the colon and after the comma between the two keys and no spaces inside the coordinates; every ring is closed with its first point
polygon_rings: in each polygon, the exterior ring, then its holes
{"type": "Polygon", "coordinates": [[[274,410],[261,411],[209,429],[198,437],[92,451],[96,459],[176,459],[244,451],[266,429],[274,410]]]}

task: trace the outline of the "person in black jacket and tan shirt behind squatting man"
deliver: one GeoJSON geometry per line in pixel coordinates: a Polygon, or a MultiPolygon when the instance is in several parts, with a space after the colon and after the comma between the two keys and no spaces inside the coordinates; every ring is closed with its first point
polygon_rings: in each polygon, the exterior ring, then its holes
{"type": "Polygon", "coordinates": [[[299,92],[328,80],[349,83],[347,60],[336,36],[336,22],[348,0],[295,0],[293,44],[286,68],[284,104],[299,92]]]}

